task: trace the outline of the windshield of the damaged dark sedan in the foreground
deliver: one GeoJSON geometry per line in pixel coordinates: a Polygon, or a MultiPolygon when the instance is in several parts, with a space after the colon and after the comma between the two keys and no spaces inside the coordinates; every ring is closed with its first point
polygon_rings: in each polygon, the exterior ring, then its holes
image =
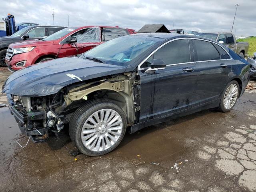
{"type": "Polygon", "coordinates": [[[107,64],[122,65],[141,56],[161,38],[148,36],[123,36],[101,44],[83,54],[84,58],[94,58],[107,64]]]}

